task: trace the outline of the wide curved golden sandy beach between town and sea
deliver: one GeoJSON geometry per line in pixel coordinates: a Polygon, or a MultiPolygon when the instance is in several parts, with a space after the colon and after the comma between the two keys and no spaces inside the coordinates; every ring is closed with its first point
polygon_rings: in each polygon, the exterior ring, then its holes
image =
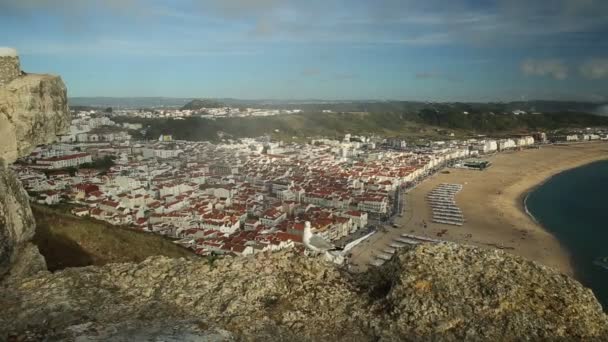
{"type": "Polygon", "coordinates": [[[526,214],[523,200],[530,190],[559,172],[608,159],[608,143],[546,146],[484,159],[492,162],[485,171],[448,168],[445,170],[449,173],[439,172],[411,190],[406,196],[406,211],[396,220],[401,227],[387,228],[357,246],[352,251],[352,262],[358,269],[365,269],[374,253],[400,234],[410,233],[500,248],[572,276],[568,252],[526,214]],[[456,196],[466,220],[462,227],[432,222],[426,195],[440,183],[463,185],[456,196]]]}

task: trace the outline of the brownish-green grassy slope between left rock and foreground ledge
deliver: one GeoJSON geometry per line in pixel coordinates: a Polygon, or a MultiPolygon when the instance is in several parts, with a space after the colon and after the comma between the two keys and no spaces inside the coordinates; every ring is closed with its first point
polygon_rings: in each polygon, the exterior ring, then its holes
{"type": "Polygon", "coordinates": [[[140,262],[149,256],[195,257],[185,248],[158,235],[78,218],[62,209],[33,205],[34,243],[51,271],[66,267],[140,262]]]}

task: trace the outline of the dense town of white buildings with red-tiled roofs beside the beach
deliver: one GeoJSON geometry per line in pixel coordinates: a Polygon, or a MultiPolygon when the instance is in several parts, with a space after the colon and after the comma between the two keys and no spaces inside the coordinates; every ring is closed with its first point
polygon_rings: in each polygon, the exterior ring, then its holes
{"type": "Polygon", "coordinates": [[[32,201],[160,234],[199,255],[303,249],[305,222],[344,246],[402,215],[401,193],[445,166],[485,168],[484,155],[550,141],[608,140],[601,130],[548,137],[428,141],[347,134],[283,143],[135,141],[107,116],[77,113],[59,142],[13,167],[32,201]]]}

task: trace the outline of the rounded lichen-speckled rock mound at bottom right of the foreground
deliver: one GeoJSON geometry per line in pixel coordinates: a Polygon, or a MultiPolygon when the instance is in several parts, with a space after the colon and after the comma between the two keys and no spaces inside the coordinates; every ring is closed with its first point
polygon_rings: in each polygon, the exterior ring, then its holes
{"type": "Polygon", "coordinates": [[[422,245],[398,267],[383,305],[390,340],[606,341],[608,318],[592,291],[498,250],[422,245]]]}

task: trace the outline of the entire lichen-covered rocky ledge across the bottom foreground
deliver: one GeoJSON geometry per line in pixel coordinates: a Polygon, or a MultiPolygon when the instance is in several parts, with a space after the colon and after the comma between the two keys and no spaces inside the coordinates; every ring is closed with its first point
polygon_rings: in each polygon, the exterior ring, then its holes
{"type": "Polygon", "coordinates": [[[158,322],[235,340],[608,340],[608,318],[575,280],[450,243],[361,275],[291,252],[214,263],[155,257],[11,279],[0,302],[12,304],[0,331],[51,340],[169,334],[158,322]]]}

